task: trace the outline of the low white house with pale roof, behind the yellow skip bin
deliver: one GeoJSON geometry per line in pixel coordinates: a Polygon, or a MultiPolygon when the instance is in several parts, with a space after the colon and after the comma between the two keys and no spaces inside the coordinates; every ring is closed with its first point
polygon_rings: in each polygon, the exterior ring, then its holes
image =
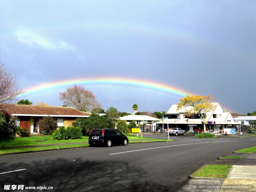
{"type": "Polygon", "coordinates": [[[147,125],[151,125],[152,123],[159,121],[159,119],[150,117],[147,115],[127,115],[119,118],[120,120],[125,120],[127,124],[132,121],[135,121],[137,125],[146,123],[147,125]]]}

